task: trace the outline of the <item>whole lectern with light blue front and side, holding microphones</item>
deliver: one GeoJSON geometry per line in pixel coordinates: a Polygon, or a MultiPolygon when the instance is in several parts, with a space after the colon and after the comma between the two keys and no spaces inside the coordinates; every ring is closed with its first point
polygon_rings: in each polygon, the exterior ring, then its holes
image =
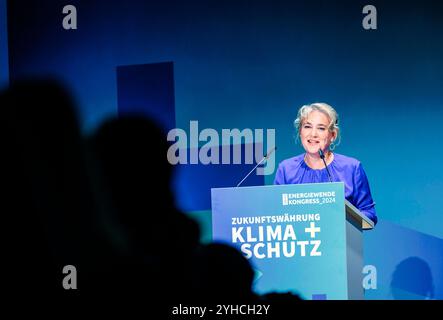
{"type": "Polygon", "coordinates": [[[250,260],[257,293],[364,299],[362,232],[374,224],[342,182],[214,188],[211,201],[213,240],[250,260]]]}

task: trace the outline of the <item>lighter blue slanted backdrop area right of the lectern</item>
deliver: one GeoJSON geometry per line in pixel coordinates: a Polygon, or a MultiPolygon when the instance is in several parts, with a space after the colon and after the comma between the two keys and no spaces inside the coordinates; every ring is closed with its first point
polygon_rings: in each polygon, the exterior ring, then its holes
{"type": "Polygon", "coordinates": [[[443,239],[380,220],[364,233],[364,256],[377,269],[366,299],[443,299],[443,239]]]}

